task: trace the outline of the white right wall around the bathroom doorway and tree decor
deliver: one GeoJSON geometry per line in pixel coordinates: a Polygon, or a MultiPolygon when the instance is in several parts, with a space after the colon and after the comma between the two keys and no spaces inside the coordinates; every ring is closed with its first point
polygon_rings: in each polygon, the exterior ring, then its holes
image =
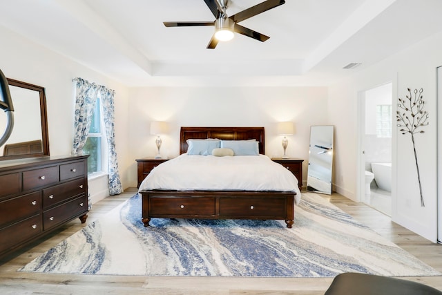
{"type": "MultiPolygon", "coordinates": [[[[410,46],[329,88],[329,120],[336,125],[337,191],[358,200],[358,92],[393,81],[393,97],[405,98],[407,88],[423,88],[430,125],[416,135],[425,207],[421,207],[416,163],[410,135],[394,129],[392,138],[392,220],[436,241],[436,67],[442,64],[442,34],[410,46]],[[344,181],[345,180],[345,181],[344,181]]],[[[396,113],[396,104],[394,113],[396,113]]]]}

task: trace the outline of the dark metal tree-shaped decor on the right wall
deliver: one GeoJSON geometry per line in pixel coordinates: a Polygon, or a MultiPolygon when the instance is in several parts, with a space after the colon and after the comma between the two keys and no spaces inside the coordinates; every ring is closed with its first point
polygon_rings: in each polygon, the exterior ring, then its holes
{"type": "Polygon", "coordinates": [[[423,107],[425,106],[425,102],[422,99],[423,89],[414,89],[412,95],[412,91],[410,88],[407,88],[409,95],[405,95],[406,99],[398,98],[398,111],[396,112],[396,118],[398,122],[398,127],[401,128],[399,131],[402,134],[410,133],[412,135],[412,143],[413,143],[413,151],[414,151],[414,160],[416,160],[416,169],[417,169],[417,179],[419,181],[419,191],[421,191],[421,207],[425,207],[425,203],[423,202],[422,196],[422,187],[421,187],[421,175],[419,174],[419,165],[417,164],[417,154],[416,154],[416,146],[414,144],[414,134],[416,133],[424,133],[423,126],[428,125],[428,113],[427,111],[423,111],[423,107]]]}

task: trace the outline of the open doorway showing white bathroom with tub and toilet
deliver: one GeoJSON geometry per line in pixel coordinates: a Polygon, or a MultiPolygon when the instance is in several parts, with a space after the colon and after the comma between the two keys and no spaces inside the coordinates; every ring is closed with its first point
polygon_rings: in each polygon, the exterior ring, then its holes
{"type": "Polygon", "coordinates": [[[392,215],[392,83],[368,89],[360,96],[365,204],[392,215]]]}

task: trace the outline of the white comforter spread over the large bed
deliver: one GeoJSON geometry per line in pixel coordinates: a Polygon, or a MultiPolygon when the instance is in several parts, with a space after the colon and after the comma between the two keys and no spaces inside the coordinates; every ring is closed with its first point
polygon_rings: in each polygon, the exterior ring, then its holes
{"type": "Polygon", "coordinates": [[[266,155],[187,155],[186,153],[156,166],[140,184],[140,191],[172,189],[177,191],[295,191],[298,180],[284,166],[266,155]]]}

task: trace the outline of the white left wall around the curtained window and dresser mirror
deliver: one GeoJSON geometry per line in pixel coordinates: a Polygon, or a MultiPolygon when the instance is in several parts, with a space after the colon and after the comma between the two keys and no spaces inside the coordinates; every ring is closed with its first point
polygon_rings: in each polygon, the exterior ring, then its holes
{"type": "MultiPolygon", "coordinates": [[[[45,87],[50,155],[69,155],[72,149],[75,104],[72,79],[82,77],[115,90],[116,148],[122,184],[124,188],[128,187],[126,171],[131,157],[126,144],[129,115],[127,88],[1,26],[0,35],[0,66],[6,77],[45,87]]],[[[102,191],[106,186],[106,178],[102,178],[90,184],[90,191],[102,191]]]]}

